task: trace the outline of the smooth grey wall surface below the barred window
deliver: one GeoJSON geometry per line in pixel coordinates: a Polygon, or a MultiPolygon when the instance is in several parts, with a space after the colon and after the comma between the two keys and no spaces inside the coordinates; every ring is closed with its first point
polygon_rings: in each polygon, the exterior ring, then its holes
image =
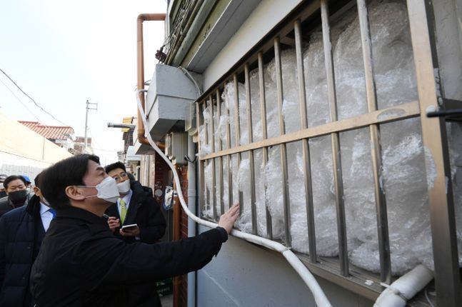
{"type": "MultiPolygon", "coordinates": [[[[204,226],[199,231],[208,230],[204,226]]],[[[373,302],[317,278],[333,306],[373,302]]],[[[315,306],[298,274],[278,253],[229,237],[211,263],[197,273],[196,306],[315,306]]]]}

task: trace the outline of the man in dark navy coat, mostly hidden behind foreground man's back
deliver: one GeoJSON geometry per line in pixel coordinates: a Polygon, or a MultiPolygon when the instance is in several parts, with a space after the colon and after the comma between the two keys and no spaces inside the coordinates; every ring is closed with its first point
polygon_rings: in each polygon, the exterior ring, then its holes
{"type": "Polygon", "coordinates": [[[0,218],[0,306],[34,306],[29,291],[32,263],[54,216],[41,196],[39,176],[35,196],[27,206],[13,209],[0,218]]]}

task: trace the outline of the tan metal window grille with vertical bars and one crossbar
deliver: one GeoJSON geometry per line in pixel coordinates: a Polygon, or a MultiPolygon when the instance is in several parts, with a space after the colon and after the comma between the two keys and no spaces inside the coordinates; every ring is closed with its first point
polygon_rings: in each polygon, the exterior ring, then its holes
{"type": "MultiPolygon", "coordinates": [[[[344,4],[344,3],[343,3],[344,4]]],[[[205,143],[211,145],[211,154],[200,156],[199,158],[199,202],[201,211],[204,210],[205,203],[211,203],[213,216],[212,219],[217,221],[219,214],[223,213],[224,206],[224,181],[228,183],[229,203],[237,201],[233,199],[233,173],[232,156],[236,156],[239,165],[242,155],[246,154],[249,159],[251,174],[251,232],[258,234],[257,231],[257,214],[256,214],[256,183],[255,170],[256,161],[254,161],[254,152],[261,150],[263,166],[268,162],[268,148],[278,146],[281,156],[281,181],[283,191],[283,222],[285,228],[285,243],[291,246],[291,214],[290,198],[288,186],[288,168],[287,168],[287,149],[286,146],[292,142],[301,142],[303,156],[303,180],[306,196],[306,221],[308,225],[308,255],[300,255],[314,273],[327,278],[333,282],[344,286],[351,291],[361,293],[369,298],[376,298],[378,293],[383,290],[379,283],[368,285],[365,281],[369,278],[376,278],[383,283],[391,283],[391,256],[390,242],[388,238],[388,221],[386,197],[381,186],[381,167],[382,167],[382,150],[381,140],[379,139],[380,127],[386,123],[403,121],[410,118],[420,118],[423,145],[431,151],[436,166],[437,176],[433,187],[428,188],[428,197],[431,212],[431,231],[433,239],[433,260],[435,264],[436,292],[438,306],[460,306],[460,283],[458,268],[458,253],[456,244],[456,226],[453,214],[453,195],[451,188],[451,176],[448,158],[448,146],[446,139],[446,130],[444,119],[429,119],[426,117],[428,107],[438,109],[441,104],[438,102],[436,79],[433,69],[438,67],[435,56],[435,38],[433,37],[433,11],[431,1],[408,0],[408,21],[411,30],[411,41],[413,46],[413,56],[416,69],[416,84],[418,89],[418,101],[411,101],[387,109],[378,109],[377,89],[373,74],[373,56],[372,43],[369,25],[368,8],[366,0],[357,0],[357,14],[359,19],[361,46],[363,57],[363,74],[366,81],[366,104],[367,112],[348,119],[338,119],[337,114],[337,97],[336,97],[336,77],[333,66],[333,51],[331,47],[331,14],[329,9],[338,10],[341,14],[341,7],[338,4],[328,4],[327,0],[306,1],[301,4],[301,8],[296,13],[287,16],[286,21],[278,29],[266,36],[258,46],[248,52],[245,59],[242,59],[231,70],[230,74],[223,76],[209,91],[196,102],[196,119],[197,126],[204,124],[205,143]],[[323,52],[326,65],[326,80],[328,89],[328,105],[330,106],[330,122],[318,126],[308,127],[307,109],[306,109],[306,89],[305,78],[303,73],[302,43],[303,31],[313,29],[314,26],[321,24],[323,35],[323,52]],[[283,44],[291,44],[296,53],[296,74],[298,81],[298,103],[300,109],[301,129],[286,133],[286,127],[283,120],[283,80],[281,73],[281,41],[283,44]],[[289,43],[286,43],[289,41],[289,43]],[[279,136],[268,139],[267,122],[266,122],[266,96],[265,80],[263,74],[263,64],[265,59],[274,58],[276,66],[276,85],[277,85],[277,107],[278,107],[278,124],[279,136]],[[262,139],[253,141],[252,134],[252,114],[251,114],[251,86],[249,81],[250,68],[258,69],[258,91],[261,114],[262,139]],[[218,146],[215,147],[214,125],[219,123],[222,113],[227,114],[228,109],[221,109],[221,93],[224,91],[226,82],[233,83],[234,97],[236,106],[238,106],[238,80],[243,80],[246,92],[246,125],[248,129],[248,143],[241,144],[241,116],[239,108],[235,107],[233,119],[235,121],[233,131],[234,141],[231,140],[231,127],[226,125],[226,142],[218,138],[218,146]],[[203,111],[209,106],[211,110],[210,124],[204,123],[203,111]],[[216,106],[214,108],[213,106],[216,106]],[[216,111],[214,111],[216,109],[216,111]],[[398,110],[398,112],[396,112],[398,110]],[[383,117],[380,114],[388,112],[388,116],[383,117]],[[341,150],[339,134],[343,131],[355,129],[368,129],[371,143],[371,163],[373,169],[373,186],[375,191],[376,203],[376,226],[378,233],[379,258],[380,258],[380,276],[371,277],[371,274],[361,270],[351,269],[348,264],[348,246],[346,238],[346,218],[345,204],[343,201],[343,180],[341,171],[341,150]],[[336,199],[336,221],[338,231],[338,261],[331,261],[328,258],[317,256],[316,254],[316,235],[315,235],[315,218],[313,213],[313,191],[311,178],[311,161],[310,161],[310,144],[308,140],[319,137],[330,136],[331,153],[333,160],[333,179],[336,199]],[[204,168],[211,163],[211,181],[212,191],[206,191],[204,168]],[[228,176],[224,178],[224,167],[227,169],[228,176]],[[216,174],[218,168],[218,175],[216,174]],[[217,183],[218,177],[218,183],[217,183]],[[446,178],[446,179],[445,179],[446,178]],[[447,183],[446,193],[446,180],[447,183]],[[218,187],[216,187],[218,184],[218,187]],[[218,189],[218,192],[216,191],[218,189]],[[219,195],[219,206],[216,206],[216,195],[219,195]],[[217,212],[220,208],[220,213],[217,212]]],[[[351,2],[346,6],[351,7],[351,2]]],[[[229,114],[227,114],[229,115],[229,114]]],[[[199,142],[199,148],[206,144],[199,142]]],[[[260,163],[260,161],[258,161],[260,163]]],[[[429,166],[426,160],[426,167],[429,166]]],[[[238,193],[238,200],[243,203],[242,193],[238,193]]],[[[273,238],[271,226],[271,214],[266,208],[266,236],[273,238]]]]}

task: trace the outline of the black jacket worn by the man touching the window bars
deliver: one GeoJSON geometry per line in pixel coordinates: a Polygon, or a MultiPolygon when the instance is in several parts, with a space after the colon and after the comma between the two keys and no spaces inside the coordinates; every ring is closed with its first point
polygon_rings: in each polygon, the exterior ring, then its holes
{"type": "Polygon", "coordinates": [[[218,227],[181,241],[126,243],[106,219],[62,208],[32,266],[31,292],[38,307],[129,306],[132,286],[199,270],[227,238],[218,227]]]}

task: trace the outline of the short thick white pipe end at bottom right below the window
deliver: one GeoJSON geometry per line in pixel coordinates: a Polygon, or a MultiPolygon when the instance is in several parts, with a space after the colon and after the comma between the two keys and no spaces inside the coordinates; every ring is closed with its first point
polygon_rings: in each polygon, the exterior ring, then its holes
{"type": "Polygon", "coordinates": [[[413,298],[418,291],[421,291],[432,279],[433,271],[419,264],[383,290],[373,306],[404,307],[407,301],[413,298]]]}

